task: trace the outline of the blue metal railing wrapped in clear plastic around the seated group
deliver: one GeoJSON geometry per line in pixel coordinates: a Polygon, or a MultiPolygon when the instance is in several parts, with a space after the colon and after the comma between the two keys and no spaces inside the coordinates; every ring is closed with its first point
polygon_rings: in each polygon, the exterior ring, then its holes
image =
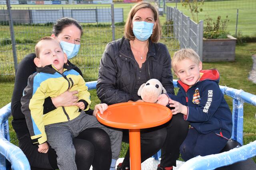
{"type": "MultiPolygon", "coordinates": [[[[88,90],[96,88],[96,81],[87,82],[88,90]]],[[[177,82],[174,80],[174,87],[177,87],[177,82]]],[[[243,144],[243,104],[244,102],[256,106],[256,95],[220,86],[223,94],[233,98],[233,131],[232,139],[243,144]]],[[[29,162],[19,147],[10,143],[8,117],[10,116],[10,103],[0,109],[0,170],[9,170],[11,163],[12,170],[29,170],[29,162]],[[8,161],[7,161],[8,160],[8,161]]],[[[256,156],[256,141],[244,145],[239,148],[213,154],[208,156],[198,156],[185,162],[180,170],[212,170],[221,166],[234,164],[236,162],[246,160],[256,156]]]]}

